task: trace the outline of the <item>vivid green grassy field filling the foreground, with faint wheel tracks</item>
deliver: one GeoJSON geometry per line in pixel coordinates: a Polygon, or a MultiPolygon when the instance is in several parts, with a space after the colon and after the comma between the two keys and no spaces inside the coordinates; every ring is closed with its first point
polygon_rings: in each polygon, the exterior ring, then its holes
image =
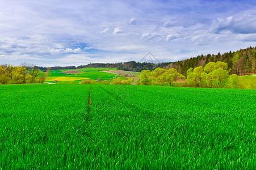
{"type": "Polygon", "coordinates": [[[255,90],[28,84],[0,99],[0,169],[256,167],[255,90]]]}

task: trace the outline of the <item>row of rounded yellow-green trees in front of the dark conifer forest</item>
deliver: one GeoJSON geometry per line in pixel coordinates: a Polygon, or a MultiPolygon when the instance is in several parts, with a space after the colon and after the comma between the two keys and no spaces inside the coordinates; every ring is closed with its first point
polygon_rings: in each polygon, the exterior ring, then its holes
{"type": "MultiPolygon", "coordinates": [[[[228,69],[228,63],[209,62],[205,67],[199,66],[187,70],[187,81],[183,84],[186,87],[208,87],[208,88],[238,88],[239,81],[236,74],[229,75],[231,69],[228,69]]],[[[186,79],[184,75],[179,74],[177,69],[157,69],[143,70],[140,74],[140,83],[144,85],[151,84],[169,84],[175,86],[178,80],[186,79]]]]}

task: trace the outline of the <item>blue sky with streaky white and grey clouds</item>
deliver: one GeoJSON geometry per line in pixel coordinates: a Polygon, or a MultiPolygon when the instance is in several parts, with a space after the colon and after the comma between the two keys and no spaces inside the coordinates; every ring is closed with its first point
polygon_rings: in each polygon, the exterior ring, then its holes
{"type": "Polygon", "coordinates": [[[256,1],[0,0],[0,65],[160,62],[256,46],[256,1]]]}

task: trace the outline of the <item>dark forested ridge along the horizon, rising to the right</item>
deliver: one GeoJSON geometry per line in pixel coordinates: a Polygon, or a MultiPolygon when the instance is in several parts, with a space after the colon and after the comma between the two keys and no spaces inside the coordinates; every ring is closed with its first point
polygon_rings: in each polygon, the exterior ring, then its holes
{"type": "MultiPolygon", "coordinates": [[[[52,70],[60,69],[81,69],[90,67],[105,67],[105,68],[117,68],[118,70],[125,71],[137,71],[142,70],[154,70],[157,67],[163,67],[165,69],[175,68],[179,73],[186,75],[187,70],[190,67],[204,66],[208,62],[223,61],[228,63],[228,67],[231,70],[230,74],[246,75],[256,73],[256,47],[249,47],[246,49],[240,49],[236,52],[227,52],[224,54],[203,54],[198,57],[192,57],[184,59],[183,61],[177,62],[161,62],[161,63],[150,63],[150,62],[120,62],[120,63],[90,63],[81,66],[66,66],[66,67],[51,67],[52,70]]],[[[38,67],[40,70],[47,70],[47,67],[38,67]]]]}

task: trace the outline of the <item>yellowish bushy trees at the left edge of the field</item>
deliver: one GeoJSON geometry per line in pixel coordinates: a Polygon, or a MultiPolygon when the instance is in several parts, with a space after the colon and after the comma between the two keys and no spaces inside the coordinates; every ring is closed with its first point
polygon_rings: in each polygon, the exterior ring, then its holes
{"type": "Polygon", "coordinates": [[[44,83],[49,71],[41,73],[36,66],[27,63],[20,66],[1,65],[0,84],[44,83]]]}

